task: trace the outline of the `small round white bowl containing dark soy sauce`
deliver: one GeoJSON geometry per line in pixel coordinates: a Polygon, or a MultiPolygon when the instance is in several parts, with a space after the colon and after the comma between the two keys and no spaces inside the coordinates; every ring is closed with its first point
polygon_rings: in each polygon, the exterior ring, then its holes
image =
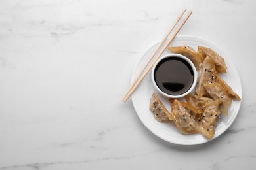
{"type": "MultiPolygon", "coordinates": [[[[177,69],[178,70],[172,71],[172,73],[169,73],[169,74],[175,74],[173,76],[176,76],[176,77],[177,77],[177,74],[178,74],[178,77],[179,77],[179,68],[177,68],[177,69]]],[[[188,71],[186,71],[186,72],[188,72],[188,71]]],[[[181,74],[181,71],[180,71],[180,74],[181,74]]],[[[167,76],[171,76],[171,75],[167,75],[167,76]]],[[[181,98],[181,97],[184,97],[184,96],[188,95],[188,93],[190,93],[190,92],[192,92],[192,90],[194,90],[194,88],[196,87],[196,82],[198,80],[198,73],[196,71],[196,67],[194,66],[194,64],[192,63],[192,61],[190,59],[186,58],[185,56],[182,56],[181,54],[167,54],[165,56],[162,56],[160,59],[158,59],[158,61],[156,61],[156,63],[154,64],[154,66],[152,68],[151,78],[152,78],[152,82],[153,82],[154,88],[161,95],[163,95],[163,97],[167,97],[167,98],[181,98]],[[182,63],[184,63],[184,65],[188,65],[188,66],[185,66],[185,67],[187,67],[187,68],[190,67],[190,68],[188,68],[190,70],[190,74],[191,74],[191,75],[188,75],[188,76],[190,76],[190,79],[192,79],[191,77],[192,77],[192,75],[194,75],[193,80],[191,82],[189,82],[189,85],[188,85],[188,86],[190,86],[190,85],[191,86],[189,88],[187,86],[186,87],[187,89],[184,90],[184,92],[179,93],[179,94],[177,94],[177,93],[175,94],[175,92],[171,92],[171,91],[168,91],[168,93],[167,92],[163,92],[163,90],[161,90],[160,87],[157,85],[157,82],[156,82],[156,79],[155,79],[156,67],[160,67],[160,65],[162,65],[164,62],[166,62],[166,60],[168,60],[169,58],[170,59],[172,58],[172,60],[174,59],[174,60],[177,60],[177,61],[179,61],[179,59],[181,59],[182,63]],[[160,64],[160,65],[158,65],[158,64],[160,64]]],[[[187,79],[184,78],[184,80],[187,80],[187,79]]],[[[178,82],[172,82],[171,84],[175,84],[175,83],[178,84],[178,82]]],[[[186,85],[184,85],[184,87],[185,86],[186,85]]],[[[169,86],[169,87],[171,87],[171,86],[169,86]]],[[[163,88],[163,86],[161,88],[163,88]]],[[[167,89],[165,89],[165,91],[166,90],[167,89]]]]}

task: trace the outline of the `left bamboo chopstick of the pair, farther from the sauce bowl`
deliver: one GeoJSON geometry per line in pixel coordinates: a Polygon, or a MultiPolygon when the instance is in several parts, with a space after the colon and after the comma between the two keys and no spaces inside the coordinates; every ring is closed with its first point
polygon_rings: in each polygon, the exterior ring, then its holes
{"type": "Polygon", "coordinates": [[[146,64],[144,65],[144,67],[142,68],[142,70],[140,71],[140,73],[137,75],[137,77],[135,78],[135,80],[133,80],[133,83],[131,84],[129,90],[127,90],[127,92],[125,93],[125,95],[123,96],[122,101],[124,101],[124,99],[127,97],[128,93],[131,91],[131,89],[133,88],[133,86],[135,86],[135,83],[138,81],[139,77],[142,75],[142,73],[145,71],[146,67],[148,66],[148,64],[150,63],[150,61],[152,60],[152,58],[154,58],[154,56],[156,55],[156,53],[158,52],[158,50],[160,49],[160,47],[163,45],[163,42],[165,42],[165,40],[167,39],[167,37],[169,36],[169,34],[171,33],[171,31],[173,31],[173,28],[177,25],[177,23],[179,22],[179,20],[181,20],[182,16],[184,15],[184,13],[186,12],[186,9],[182,10],[181,14],[177,17],[177,19],[175,20],[175,22],[173,23],[173,25],[171,25],[169,31],[167,32],[167,34],[165,35],[165,37],[163,37],[163,39],[161,40],[160,44],[158,44],[158,46],[156,47],[156,49],[154,50],[154,52],[152,53],[152,55],[150,56],[150,58],[148,58],[148,61],[146,61],[146,64]]]}

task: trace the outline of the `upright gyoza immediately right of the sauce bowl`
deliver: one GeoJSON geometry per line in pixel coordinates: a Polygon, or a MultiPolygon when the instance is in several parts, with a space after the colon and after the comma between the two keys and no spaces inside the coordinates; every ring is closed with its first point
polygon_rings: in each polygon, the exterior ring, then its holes
{"type": "Polygon", "coordinates": [[[209,58],[208,56],[204,59],[199,75],[198,75],[198,84],[196,84],[196,93],[202,97],[207,93],[205,91],[205,88],[203,87],[203,84],[211,84],[216,81],[215,73],[215,63],[213,59],[209,58]]]}

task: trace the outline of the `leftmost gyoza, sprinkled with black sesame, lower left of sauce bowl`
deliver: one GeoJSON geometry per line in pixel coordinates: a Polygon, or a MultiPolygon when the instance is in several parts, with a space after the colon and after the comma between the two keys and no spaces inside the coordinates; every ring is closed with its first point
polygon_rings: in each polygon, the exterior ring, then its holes
{"type": "Polygon", "coordinates": [[[150,99],[150,110],[153,112],[154,118],[158,120],[158,122],[168,122],[173,120],[171,114],[163,103],[161,103],[156,93],[153,93],[150,99]]]}

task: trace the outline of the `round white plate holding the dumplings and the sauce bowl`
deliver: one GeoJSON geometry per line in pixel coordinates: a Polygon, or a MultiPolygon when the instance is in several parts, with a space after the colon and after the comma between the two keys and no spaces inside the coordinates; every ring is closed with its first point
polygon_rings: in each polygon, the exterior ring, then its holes
{"type": "MultiPolygon", "coordinates": [[[[215,50],[215,52],[222,56],[225,59],[226,66],[228,67],[228,73],[222,74],[221,77],[232,87],[234,92],[236,92],[242,98],[242,88],[238,71],[236,71],[236,67],[234,66],[230,58],[228,58],[228,56],[223,53],[222,50],[220,50],[219,48],[217,48],[217,46],[214,46],[210,42],[190,36],[177,36],[175,37],[173,42],[171,42],[170,46],[179,46],[182,44],[192,46],[195,50],[197,50],[198,46],[206,46],[215,50]]],[[[150,49],[148,49],[148,51],[142,56],[142,58],[140,58],[135,69],[133,70],[132,80],[137,76],[140,69],[143,67],[144,63],[146,63],[147,59],[150,57],[150,54],[152,54],[157,45],[158,44],[155,44],[150,49]]],[[[166,50],[164,54],[167,53],[171,52],[169,52],[169,50],[166,50]]],[[[150,131],[152,131],[152,133],[165,141],[182,145],[202,144],[210,141],[209,139],[203,137],[203,135],[201,134],[183,135],[175,127],[173,122],[160,123],[155,120],[152,112],[149,109],[150,98],[153,92],[156,91],[154,91],[154,88],[152,86],[152,80],[150,78],[150,73],[148,73],[148,75],[141,82],[140,86],[132,95],[133,107],[135,108],[141,122],[150,131]]],[[[165,107],[167,107],[168,110],[171,110],[171,106],[169,105],[168,100],[164,99],[160,95],[158,96],[160,97],[161,101],[163,101],[165,107]]],[[[230,127],[230,125],[236,119],[239,109],[240,102],[233,100],[228,110],[228,118],[224,118],[224,116],[221,116],[221,118],[219,119],[213,139],[219,137],[219,135],[224,133],[224,131],[226,131],[226,129],[230,127]]]]}

